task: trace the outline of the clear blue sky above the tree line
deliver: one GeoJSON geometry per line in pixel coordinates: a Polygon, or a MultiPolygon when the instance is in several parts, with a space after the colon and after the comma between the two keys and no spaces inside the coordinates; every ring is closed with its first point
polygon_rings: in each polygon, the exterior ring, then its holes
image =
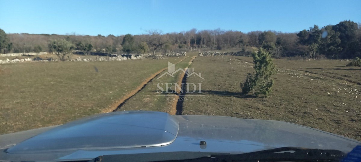
{"type": "Polygon", "coordinates": [[[6,33],[297,32],[343,20],[361,23],[361,0],[0,0],[6,33]]]}

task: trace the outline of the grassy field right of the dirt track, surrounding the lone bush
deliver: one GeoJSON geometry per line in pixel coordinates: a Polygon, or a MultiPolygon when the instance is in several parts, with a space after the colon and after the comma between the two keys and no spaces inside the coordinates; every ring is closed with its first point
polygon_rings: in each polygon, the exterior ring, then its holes
{"type": "MultiPolygon", "coordinates": [[[[183,114],[287,121],[361,140],[361,86],[298,71],[301,67],[318,70],[316,67],[329,62],[344,66],[344,62],[312,60],[313,64],[306,64],[306,61],[275,60],[279,69],[274,76],[272,94],[269,98],[255,98],[240,93],[240,82],[253,71],[249,61],[252,58],[196,58],[190,67],[202,72],[206,80],[202,85],[205,95],[184,102],[183,114]]],[[[344,70],[334,71],[336,76],[344,70]]],[[[352,74],[352,78],[360,76],[361,73],[352,74]]]]}

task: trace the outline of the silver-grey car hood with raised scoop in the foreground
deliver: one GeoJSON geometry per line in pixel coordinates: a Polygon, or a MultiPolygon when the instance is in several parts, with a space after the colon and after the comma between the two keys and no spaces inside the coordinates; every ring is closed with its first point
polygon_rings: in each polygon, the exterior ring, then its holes
{"type": "Polygon", "coordinates": [[[360,144],[282,121],[123,111],[1,135],[0,161],[75,161],[159,152],[236,154],[279,147],[337,149],[347,153],[360,144]],[[200,145],[200,141],[206,141],[206,145],[200,145]]]}

